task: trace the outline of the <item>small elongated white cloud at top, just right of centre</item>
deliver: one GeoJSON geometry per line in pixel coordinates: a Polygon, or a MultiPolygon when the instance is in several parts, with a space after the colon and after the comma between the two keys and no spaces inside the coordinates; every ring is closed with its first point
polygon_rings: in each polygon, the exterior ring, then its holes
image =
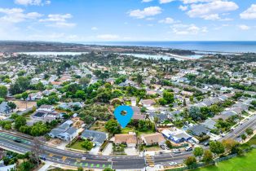
{"type": "Polygon", "coordinates": [[[161,7],[147,7],[143,10],[130,11],[129,15],[137,19],[143,19],[148,16],[161,14],[161,7]]]}

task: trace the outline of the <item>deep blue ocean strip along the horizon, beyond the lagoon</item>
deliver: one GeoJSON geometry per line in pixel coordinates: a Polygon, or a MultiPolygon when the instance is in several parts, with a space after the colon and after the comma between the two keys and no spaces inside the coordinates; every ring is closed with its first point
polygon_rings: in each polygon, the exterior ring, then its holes
{"type": "MultiPolygon", "coordinates": [[[[81,42],[80,42],[81,43],[81,42]]],[[[199,50],[230,53],[256,53],[256,41],[254,42],[82,42],[86,45],[105,46],[152,46],[166,47],[182,50],[199,50]]]]}

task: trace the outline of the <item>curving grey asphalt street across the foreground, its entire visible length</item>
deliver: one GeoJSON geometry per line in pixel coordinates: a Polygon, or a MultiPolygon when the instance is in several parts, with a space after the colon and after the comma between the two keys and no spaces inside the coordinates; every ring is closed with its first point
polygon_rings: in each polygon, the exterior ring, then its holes
{"type": "MultiPolygon", "coordinates": [[[[252,116],[243,124],[238,125],[235,130],[226,134],[224,138],[238,138],[241,134],[245,133],[245,129],[247,128],[256,129],[256,116],[252,116]]],[[[0,132],[0,146],[21,153],[31,151],[33,142],[21,138],[23,141],[18,143],[13,141],[15,138],[17,137],[13,134],[0,132]]],[[[220,141],[224,138],[221,138],[220,141]]],[[[64,151],[49,146],[43,146],[42,148],[42,156],[45,156],[46,160],[57,164],[94,169],[143,169],[145,167],[145,160],[141,156],[92,156],[85,153],[64,151]],[[82,157],[85,157],[83,158],[84,160],[82,160],[82,157]]],[[[179,154],[166,153],[153,156],[153,160],[155,164],[168,164],[170,161],[182,161],[191,155],[192,151],[184,151],[179,154]]]]}

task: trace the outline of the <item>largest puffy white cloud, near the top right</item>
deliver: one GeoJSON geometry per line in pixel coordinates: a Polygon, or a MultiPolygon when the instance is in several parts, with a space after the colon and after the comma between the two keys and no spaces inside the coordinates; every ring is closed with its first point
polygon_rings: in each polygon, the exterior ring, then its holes
{"type": "Polygon", "coordinates": [[[192,18],[202,18],[205,20],[220,20],[220,16],[228,11],[235,11],[239,7],[235,2],[216,0],[213,2],[192,4],[187,12],[192,18]]]}

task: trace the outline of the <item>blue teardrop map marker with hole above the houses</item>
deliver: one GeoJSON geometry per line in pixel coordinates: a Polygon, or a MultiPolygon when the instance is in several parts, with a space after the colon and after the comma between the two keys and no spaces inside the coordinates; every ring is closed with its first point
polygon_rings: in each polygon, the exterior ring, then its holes
{"type": "Polygon", "coordinates": [[[114,111],[114,116],[117,118],[117,121],[122,128],[126,128],[126,125],[130,122],[133,115],[134,111],[129,106],[119,106],[114,111]],[[126,115],[121,115],[122,111],[125,111],[126,115]]]}

